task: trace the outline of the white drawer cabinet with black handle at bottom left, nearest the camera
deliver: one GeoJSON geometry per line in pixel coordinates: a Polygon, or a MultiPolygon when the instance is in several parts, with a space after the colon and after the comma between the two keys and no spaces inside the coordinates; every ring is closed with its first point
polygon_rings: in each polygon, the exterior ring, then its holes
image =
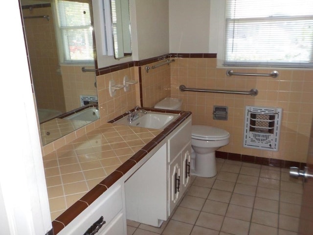
{"type": "Polygon", "coordinates": [[[58,235],[126,235],[124,184],[116,182],[91,205],[72,220],[58,235]],[[102,222],[105,221],[105,222],[102,222]],[[96,224],[102,225],[96,225],[96,224]]]}

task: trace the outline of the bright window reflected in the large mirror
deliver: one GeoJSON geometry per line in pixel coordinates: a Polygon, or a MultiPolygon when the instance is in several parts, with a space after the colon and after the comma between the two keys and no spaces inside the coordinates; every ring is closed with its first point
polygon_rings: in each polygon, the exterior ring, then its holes
{"type": "Polygon", "coordinates": [[[56,0],[63,63],[93,63],[89,3],[56,0]]]}

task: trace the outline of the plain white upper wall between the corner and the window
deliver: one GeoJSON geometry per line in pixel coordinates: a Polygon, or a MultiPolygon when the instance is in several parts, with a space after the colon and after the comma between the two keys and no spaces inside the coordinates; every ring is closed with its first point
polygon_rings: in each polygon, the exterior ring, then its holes
{"type": "Polygon", "coordinates": [[[169,0],[170,52],[211,53],[209,15],[210,0],[169,0]]]}

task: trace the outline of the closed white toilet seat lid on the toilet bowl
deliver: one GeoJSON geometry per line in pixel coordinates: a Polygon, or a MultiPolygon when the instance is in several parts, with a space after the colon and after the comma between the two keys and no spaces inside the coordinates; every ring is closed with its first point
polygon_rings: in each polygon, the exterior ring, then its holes
{"type": "Polygon", "coordinates": [[[229,133],[223,129],[204,126],[204,125],[192,125],[191,138],[203,141],[221,141],[229,138],[229,133]]]}

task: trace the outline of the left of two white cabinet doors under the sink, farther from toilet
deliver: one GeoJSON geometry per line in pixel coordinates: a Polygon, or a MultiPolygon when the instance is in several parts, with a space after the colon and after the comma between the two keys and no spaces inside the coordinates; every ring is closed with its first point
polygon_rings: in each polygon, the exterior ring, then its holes
{"type": "Polygon", "coordinates": [[[176,156],[175,160],[169,164],[169,215],[175,208],[175,205],[179,201],[181,195],[181,177],[180,168],[181,165],[181,153],[176,156]]]}

